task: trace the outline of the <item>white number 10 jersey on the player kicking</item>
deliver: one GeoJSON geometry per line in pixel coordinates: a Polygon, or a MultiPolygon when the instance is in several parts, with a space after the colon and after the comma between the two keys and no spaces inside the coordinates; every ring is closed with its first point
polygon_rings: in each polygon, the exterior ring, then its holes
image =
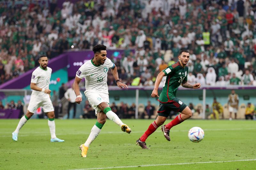
{"type": "Polygon", "coordinates": [[[95,65],[92,60],[85,62],[76,72],[76,77],[85,78],[86,91],[108,93],[108,69],[113,69],[115,64],[107,58],[103,65],[95,65]]]}

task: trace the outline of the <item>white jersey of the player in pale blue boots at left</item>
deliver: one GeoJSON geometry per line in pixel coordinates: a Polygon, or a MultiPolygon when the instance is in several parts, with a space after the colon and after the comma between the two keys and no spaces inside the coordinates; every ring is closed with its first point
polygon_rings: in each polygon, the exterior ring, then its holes
{"type": "MultiPolygon", "coordinates": [[[[47,67],[47,70],[43,70],[40,67],[37,67],[36,70],[32,73],[31,83],[36,83],[36,86],[39,88],[49,89],[50,79],[52,75],[52,69],[47,67]]],[[[36,97],[40,100],[49,99],[49,94],[44,92],[39,92],[36,90],[32,90],[31,98],[36,97]]]]}

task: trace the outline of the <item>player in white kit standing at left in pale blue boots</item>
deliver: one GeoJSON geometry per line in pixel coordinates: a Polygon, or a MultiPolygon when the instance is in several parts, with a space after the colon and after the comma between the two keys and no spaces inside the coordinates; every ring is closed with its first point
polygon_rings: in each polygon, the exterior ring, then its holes
{"type": "Polygon", "coordinates": [[[31,98],[28,105],[28,111],[26,115],[21,117],[20,122],[12,132],[12,139],[14,141],[18,141],[18,134],[21,127],[28,121],[28,119],[34,115],[35,111],[39,107],[43,107],[44,112],[47,114],[48,126],[51,132],[51,142],[64,142],[56,137],[55,135],[55,122],[54,122],[54,109],[52,106],[52,101],[50,99],[51,90],[49,89],[50,79],[52,75],[52,69],[47,67],[48,58],[46,55],[41,55],[39,57],[40,66],[36,68],[36,70],[32,73],[30,88],[33,90],[31,94],[31,98]]]}

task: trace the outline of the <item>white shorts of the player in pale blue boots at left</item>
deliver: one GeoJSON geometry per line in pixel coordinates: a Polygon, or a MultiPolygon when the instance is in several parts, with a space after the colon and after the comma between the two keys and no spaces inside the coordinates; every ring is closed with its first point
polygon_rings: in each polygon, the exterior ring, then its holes
{"type": "Polygon", "coordinates": [[[43,107],[45,113],[54,111],[50,98],[48,100],[39,100],[38,98],[31,97],[28,104],[28,111],[35,113],[39,107],[43,107]]]}

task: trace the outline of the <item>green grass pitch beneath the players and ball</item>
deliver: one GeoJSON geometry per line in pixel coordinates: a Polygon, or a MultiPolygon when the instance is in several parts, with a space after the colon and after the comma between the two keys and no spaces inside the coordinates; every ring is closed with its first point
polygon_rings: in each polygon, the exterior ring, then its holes
{"type": "Polygon", "coordinates": [[[153,120],[123,120],[133,130],[130,135],[107,120],[87,158],[78,147],[96,119],[55,120],[64,143],[50,143],[46,119],[29,120],[14,142],[11,133],[18,122],[0,120],[0,169],[256,169],[255,121],[187,120],[172,128],[171,142],[158,128],[146,141],[151,149],[142,150],[136,140],[153,120]],[[200,143],[188,139],[194,126],[204,129],[200,143]]]}

